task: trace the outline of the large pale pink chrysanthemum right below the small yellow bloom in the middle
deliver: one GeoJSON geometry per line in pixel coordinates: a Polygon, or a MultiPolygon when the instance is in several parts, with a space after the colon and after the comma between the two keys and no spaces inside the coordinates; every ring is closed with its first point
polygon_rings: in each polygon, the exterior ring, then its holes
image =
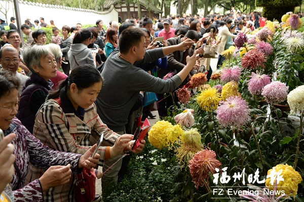
{"type": "Polygon", "coordinates": [[[238,96],[220,101],[216,114],[218,123],[223,127],[240,128],[246,125],[250,119],[248,103],[238,96]]]}

